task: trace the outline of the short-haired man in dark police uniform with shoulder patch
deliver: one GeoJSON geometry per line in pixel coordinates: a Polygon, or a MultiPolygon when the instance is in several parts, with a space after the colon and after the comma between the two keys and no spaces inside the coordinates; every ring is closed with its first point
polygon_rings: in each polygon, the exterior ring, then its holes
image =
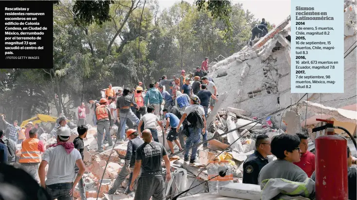
{"type": "Polygon", "coordinates": [[[243,183],[259,185],[259,172],[268,164],[267,156],[271,155],[268,135],[257,136],[255,149],[254,153],[243,164],[243,183]]]}

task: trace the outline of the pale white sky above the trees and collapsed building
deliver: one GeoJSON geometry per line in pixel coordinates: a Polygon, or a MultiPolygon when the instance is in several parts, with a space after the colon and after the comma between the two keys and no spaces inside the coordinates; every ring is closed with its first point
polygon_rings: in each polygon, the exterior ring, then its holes
{"type": "MultiPolygon", "coordinates": [[[[158,0],[160,9],[169,8],[181,0],[158,0]]],[[[193,3],[194,0],[185,0],[193,3]]],[[[232,4],[242,3],[244,10],[254,14],[254,18],[265,18],[269,23],[278,25],[290,15],[290,0],[232,0],[232,4]]]]}

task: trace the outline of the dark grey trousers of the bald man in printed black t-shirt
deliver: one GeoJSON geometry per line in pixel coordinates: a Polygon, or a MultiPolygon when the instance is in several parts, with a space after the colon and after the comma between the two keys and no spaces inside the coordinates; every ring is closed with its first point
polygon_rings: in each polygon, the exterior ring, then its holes
{"type": "Polygon", "coordinates": [[[165,182],[160,177],[141,177],[138,182],[134,200],[164,200],[165,182]]]}

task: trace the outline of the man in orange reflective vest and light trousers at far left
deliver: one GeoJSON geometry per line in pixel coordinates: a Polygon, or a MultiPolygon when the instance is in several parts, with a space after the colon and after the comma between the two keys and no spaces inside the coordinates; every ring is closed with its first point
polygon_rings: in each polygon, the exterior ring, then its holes
{"type": "Polygon", "coordinates": [[[21,155],[18,163],[32,178],[39,183],[38,166],[41,163],[41,153],[45,152],[46,145],[37,139],[37,129],[30,130],[30,138],[21,144],[21,155]]]}

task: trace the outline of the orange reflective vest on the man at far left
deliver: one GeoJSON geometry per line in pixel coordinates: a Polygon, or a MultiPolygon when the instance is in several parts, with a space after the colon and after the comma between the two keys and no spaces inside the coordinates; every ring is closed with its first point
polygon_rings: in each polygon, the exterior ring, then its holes
{"type": "Polygon", "coordinates": [[[22,142],[21,156],[19,163],[40,163],[41,162],[41,152],[38,150],[38,140],[37,138],[25,139],[22,142]]]}

